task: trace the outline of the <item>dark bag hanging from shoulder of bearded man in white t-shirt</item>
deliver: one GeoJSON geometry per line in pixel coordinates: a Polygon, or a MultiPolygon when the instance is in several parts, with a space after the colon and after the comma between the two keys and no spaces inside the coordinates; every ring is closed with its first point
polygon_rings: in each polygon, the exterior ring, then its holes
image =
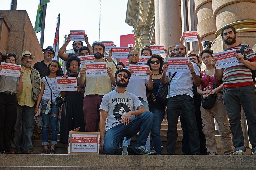
{"type": "Polygon", "coordinates": [[[175,72],[172,75],[171,79],[170,79],[170,76],[168,75],[167,83],[164,86],[162,86],[161,82],[159,84],[159,88],[158,88],[158,91],[157,91],[157,97],[160,100],[160,102],[162,102],[165,106],[167,106],[167,98],[166,97],[167,97],[167,95],[169,93],[169,90],[170,90],[169,89],[169,84],[171,83],[171,80],[173,79],[173,77],[175,76],[176,73],[177,72],[175,72]],[[170,79],[170,81],[169,81],[169,79],[170,79]]]}

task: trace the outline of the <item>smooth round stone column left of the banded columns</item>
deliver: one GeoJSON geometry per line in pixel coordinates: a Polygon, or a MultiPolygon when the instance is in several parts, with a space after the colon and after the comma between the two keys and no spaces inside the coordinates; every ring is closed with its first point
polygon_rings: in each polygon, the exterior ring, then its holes
{"type": "Polygon", "coordinates": [[[159,1],[159,29],[160,44],[167,49],[170,45],[176,45],[181,37],[181,20],[179,1],[159,1]]]}

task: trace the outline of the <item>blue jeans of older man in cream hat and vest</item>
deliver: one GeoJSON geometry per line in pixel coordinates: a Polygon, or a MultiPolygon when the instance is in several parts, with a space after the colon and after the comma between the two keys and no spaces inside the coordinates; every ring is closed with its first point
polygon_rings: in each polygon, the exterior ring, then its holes
{"type": "Polygon", "coordinates": [[[19,146],[19,135],[20,135],[20,125],[22,126],[21,132],[21,152],[33,152],[33,145],[31,137],[33,135],[35,127],[35,108],[36,106],[20,106],[17,108],[17,120],[14,126],[14,137],[11,139],[10,150],[17,152],[19,146]]]}

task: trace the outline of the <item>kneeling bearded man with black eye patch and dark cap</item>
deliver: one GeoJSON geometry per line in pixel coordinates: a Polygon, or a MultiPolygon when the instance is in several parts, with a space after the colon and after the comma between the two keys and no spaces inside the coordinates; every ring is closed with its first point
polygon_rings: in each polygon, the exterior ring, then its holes
{"type": "Polygon", "coordinates": [[[156,154],[145,143],[153,124],[153,113],[145,109],[139,98],[126,91],[131,74],[126,69],[115,73],[116,89],[104,95],[100,105],[100,152],[115,154],[124,136],[132,138],[139,132],[134,145],[142,155],[156,154]],[[136,115],[135,118],[132,115],[136,115]]]}

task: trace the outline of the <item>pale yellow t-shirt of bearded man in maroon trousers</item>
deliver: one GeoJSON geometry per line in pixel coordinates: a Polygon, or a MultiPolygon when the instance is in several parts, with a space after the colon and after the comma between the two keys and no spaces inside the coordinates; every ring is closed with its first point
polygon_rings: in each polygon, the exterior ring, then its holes
{"type": "MultiPolygon", "coordinates": [[[[91,62],[94,63],[94,60],[91,62]]],[[[115,77],[116,67],[113,62],[106,62],[107,67],[110,67],[113,70],[112,75],[115,77]]],[[[82,68],[86,68],[86,64],[83,65],[82,68]]],[[[77,76],[79,79],[80,73],[77,76]]],[[[99,94],[99,95],[105,95],[112,91],[112,84],[110,81],[109,76],[102,76],[102,77],[86,77],[86,74],[84,75],[85,78],[85,94],[91,95],[91,94],[99,94]]]]}

